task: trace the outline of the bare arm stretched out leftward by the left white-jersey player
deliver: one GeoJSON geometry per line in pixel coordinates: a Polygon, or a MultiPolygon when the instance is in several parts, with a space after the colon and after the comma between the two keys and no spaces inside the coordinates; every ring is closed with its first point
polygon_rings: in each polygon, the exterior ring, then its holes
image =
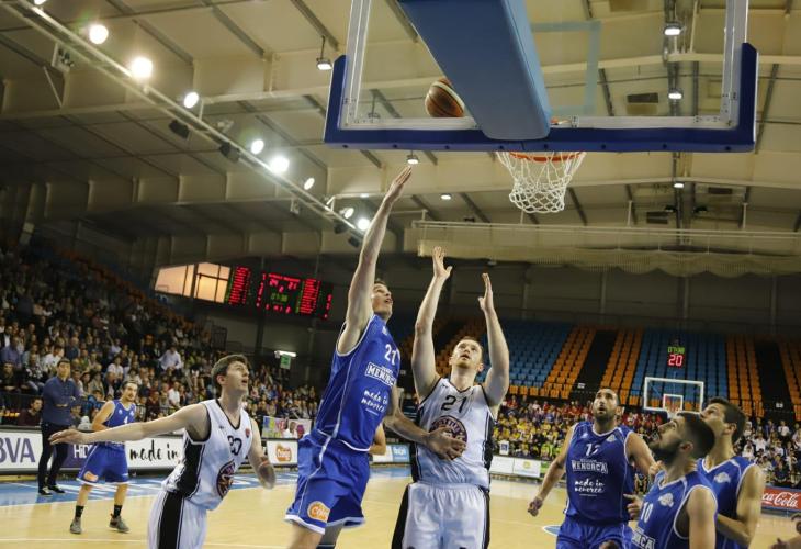
{"type": "MultiPolygon", "coordinates": [[[[208,433],[208,416],[203,404],[192,404],[180,408],[172,415],[154,419],[153,422],[136,422],[121,425],[112,429],[95,430],[94,433],[80,433],[76,429],[59,430],[50,436],[52,444],[68,442],[74,445],[91,445],[94,442],[125,442],[127,440],[142,440],[165,433],[188,429],[190,435],[195,437],[198,425],[204,425],[203,433],[208,433]]],[[[202,435],[200,433],[198,435],[202,435]]],[[[204,438],[200,436],[200,438],[204,438]]]]}

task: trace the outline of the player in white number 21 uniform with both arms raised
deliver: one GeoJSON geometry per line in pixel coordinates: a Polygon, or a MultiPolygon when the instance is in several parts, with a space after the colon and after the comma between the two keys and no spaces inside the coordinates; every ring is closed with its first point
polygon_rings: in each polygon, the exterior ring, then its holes
{"type": "Polygon", "coordinates": [[[472,337],[454,347],[449,378],[437,376],[431,325],[442,287],[451,267],[443,265],[444,251],[433,249],[433,278],[422,300],[415,324],[411,371],[421,399],[417,422],[426,430],[445,427],[463,440],[464,452],[440,459],[431,450],[416,446],[411,457],[415,482],[406,488],[393,549],[480,549],[489,545],[489,461],[492,434],[500,401],[509,389],[509,349],[493,305],[493,287],[485,273],[484,312],[492,369],[484,384],[475,377],[484,369],[483,349],[472,337]]]}

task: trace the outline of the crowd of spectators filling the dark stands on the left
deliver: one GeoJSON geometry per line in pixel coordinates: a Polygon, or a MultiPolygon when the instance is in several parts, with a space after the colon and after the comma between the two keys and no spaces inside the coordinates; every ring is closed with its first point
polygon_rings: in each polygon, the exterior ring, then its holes
{"type": "MultiPolygon", "coordinates": [[[[88,428],[124,383],[139,385],[137,419],[154,419],[215,396],[211,368],[222,355],[210,334],[110,269],[47,248],[0,248],[0,421],[34,426],[41,394],[64,359],[88,428]]],[[[289,372],[260,365],[250,377],[248,412],[313,419],[318,399],[290,389],[289,372]]]]}

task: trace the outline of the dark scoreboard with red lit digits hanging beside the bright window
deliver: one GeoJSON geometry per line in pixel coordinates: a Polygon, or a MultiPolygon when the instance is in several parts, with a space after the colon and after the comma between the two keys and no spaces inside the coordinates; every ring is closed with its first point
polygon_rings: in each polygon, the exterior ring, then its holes
{"type": "Polygon", "coordinates": [[[277,314],[328,318],[334,287],[314,278],[297,278],[249,267],[232,267],[225,303],[277,314]]]}

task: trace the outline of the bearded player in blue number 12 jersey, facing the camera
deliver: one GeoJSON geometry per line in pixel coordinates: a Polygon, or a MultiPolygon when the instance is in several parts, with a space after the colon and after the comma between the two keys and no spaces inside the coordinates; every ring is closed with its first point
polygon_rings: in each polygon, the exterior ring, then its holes
{"type": "Polygon", "coordinates": [[[634,468],[647,475],[654,458],[640,435],[618,424],[619,413],[618,394],[599,390],[593,401],[593,421],[567,430],[562,450],[529,504],[529,513],[537,516],[566,473],[567,508],[556,537],[559,549],[622,549],[631,537],[628,505],[634,493],[634,468]]]}

